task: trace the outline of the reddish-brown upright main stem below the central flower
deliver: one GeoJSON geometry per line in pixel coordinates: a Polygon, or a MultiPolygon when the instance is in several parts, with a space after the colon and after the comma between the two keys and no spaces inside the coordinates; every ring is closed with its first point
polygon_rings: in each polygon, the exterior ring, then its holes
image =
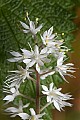
{"type": "Polygon", "coordinates": [[[36,113],[40,113],[40,74],[36,71],[36,113]]]}

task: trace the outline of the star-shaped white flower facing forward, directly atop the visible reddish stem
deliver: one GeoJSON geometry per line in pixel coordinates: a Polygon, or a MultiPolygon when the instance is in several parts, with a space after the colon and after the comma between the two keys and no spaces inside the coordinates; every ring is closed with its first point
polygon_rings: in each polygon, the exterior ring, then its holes
{"type": "Polygon", "coordinates": [[[43,48],[41,52],[39,53],[39,48],[37,45],[35,45],[34,51],[32,51],[32,56],[30,58],[30,62],[27,62],[27,59],[23,60],[24,63],[26,63],[27,67],[32,67],[34,64],[36,64],[36,70],[40,73],[40,66],[44,66],[44,63],[50,62],[50,60],[47,58],[47,48],[43,48]]]}

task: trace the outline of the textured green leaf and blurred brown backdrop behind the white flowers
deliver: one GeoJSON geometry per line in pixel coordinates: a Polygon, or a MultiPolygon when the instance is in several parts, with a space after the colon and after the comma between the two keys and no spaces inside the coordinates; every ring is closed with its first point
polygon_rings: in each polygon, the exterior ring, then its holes
{"type": "MultiPolygon", "coordinates": [[[[10,120],[3,112],[2,85],[8,70],[15,68],[15,64],[7,62],[10,50],[27,48],[27,42],[32,43],[30,36],[20,30],[19,21],[24,21],[29,12],[33,21],[39,18],[39,24],[44,23],[44,29],[51,26],[57,33],[64,32],[66,46],[71,49],[70,60],[76,68],[80,68],[80,1],[79,0],[0,0],[0,119],[10,120]]],[[[65,108],[65,112],[54,110],[53,120],[80,120],[80,70],[76,69],[76,78],[68,78],[69,84],[55,81],[57,86],[63,87],[63,92],[71,92],[75,98],[72,108],[65,108]],[[63,84],[62,84],[63,83],[63,84]]],[[[19,118],[17,118],[18,120],[19,118]]],[[[49,120],[49,119],[48,119],[49,120]]]]}

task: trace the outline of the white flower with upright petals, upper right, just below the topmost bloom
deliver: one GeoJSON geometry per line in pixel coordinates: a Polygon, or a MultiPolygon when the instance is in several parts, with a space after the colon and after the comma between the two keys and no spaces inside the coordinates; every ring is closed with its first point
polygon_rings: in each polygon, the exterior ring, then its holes
{"type": "Polygon", "coordinates": [[[55,37],[55,34],[52,34],[53,32],[53,26],[43,33],[43,36],[41,36],[43,44],[49,46],[49,44],[53,44],[53,39],[55,37]]]}

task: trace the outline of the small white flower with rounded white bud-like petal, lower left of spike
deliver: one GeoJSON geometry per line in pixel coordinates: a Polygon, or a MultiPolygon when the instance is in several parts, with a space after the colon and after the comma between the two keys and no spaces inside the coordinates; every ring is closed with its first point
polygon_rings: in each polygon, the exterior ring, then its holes
{"type": "Polygon", "coordinates": [[[12,88],[10,88],[9,85],[4,86],[3,92],[8,93],[8,95],[3,99],[7,101],[6,104],[8,104],[9,102],[12,102],[16,96],[20,95],[18,88],[19,86],[17,85],[12,88]]]}

